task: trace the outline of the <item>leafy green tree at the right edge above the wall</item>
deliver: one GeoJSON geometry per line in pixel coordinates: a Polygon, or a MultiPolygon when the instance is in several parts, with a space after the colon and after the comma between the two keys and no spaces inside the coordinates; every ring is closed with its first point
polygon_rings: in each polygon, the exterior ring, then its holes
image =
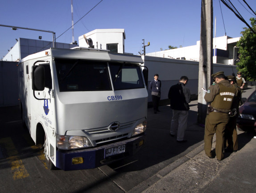
{"type": "Polygon", "coordinates": [[[249,28],[243,28],[242,36],[236,44],[240,54],[236,69],[243,73],[245,80],[252,81],[256,80],[256,18],[252,17],[250,21],[255,32],[249,28]]]}

